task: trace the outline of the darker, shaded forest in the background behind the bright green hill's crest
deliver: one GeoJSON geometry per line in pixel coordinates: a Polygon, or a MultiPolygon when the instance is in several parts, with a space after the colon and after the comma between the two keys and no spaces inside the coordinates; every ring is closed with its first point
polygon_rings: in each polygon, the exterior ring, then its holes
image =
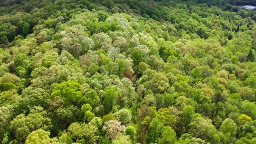
{"type": "MultiPolygon", "coordinates": [[[[69,19],[69,14],[73,13],[74,9],[104,9],[109,11],[109,13],[136,13],[142,15],[149,19],[149,17],[155,20],[165,20],[172,23],[177,23],[179,21],[173,16],[173,8],[183,9],[184,11],[189,11],[190,13],[195,13],[193,11],[194,5],[201,5],[200,7],[217,7],[223,10],[228,10],[231,12],[236,12],[231,16],[234,19],[234,15],[240,15],[243,18],[251,17],[254,21],[256,20],[255,11],[243,10],[236,5],[237,3],[247,4],[248,1],[137,1],[137,0],[127,0],[127,1],[4,1],[0,3],[0,44],[6,44],[14,39],[16,35],[22,35],[26,37],[27,34],[33,32],[33,27],[37,24],[42,23],[42,21],[48,19],[50,16],[59,16],[61,11],[66,9],[65,15],[62,15],[64,20],[69,19]],[[234,4],[234,5],[231,5],[234,4]],[[73,12],[70,12],[73,11],[73,12]]],[[[255,2],[254,2],[255,3],[255,2]]],[[[251,3],[253,4],[253,2],[251,3]]],[[[255,4],[256,5],[256,4],[255,4]]],[[[201,12],[202,13],[202,12],[201,12]]],[[[216,15],[222,15],[222,11],[213,12],[216,15]]],[[[203,11],[203,15],[209,15],[207,11],[203,11]]],[[[201,16],[201,15],[200,15],[201,16]]],[[[226,15],[230,16],[230,15],[226,15]]],[[[56,23],[59,21],[53,22],[56,23]]],[[[51,27],[54,27],[52,25],[51,27]]],[[[201,35],[200,35],[201,36],[201,35]]]]}

